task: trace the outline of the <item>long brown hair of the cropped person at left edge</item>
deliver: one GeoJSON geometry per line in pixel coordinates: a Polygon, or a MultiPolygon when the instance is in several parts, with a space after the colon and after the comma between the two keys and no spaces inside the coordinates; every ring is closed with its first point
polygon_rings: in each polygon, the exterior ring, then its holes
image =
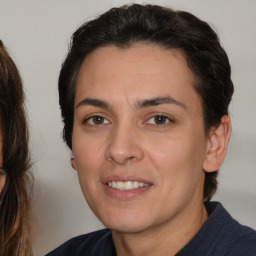
{"type": "Polygon", "coordinates": [[[0,194],[0,255],[30,256],[29,212],[32,177],[24,93],[18,69],[0,40],[0,166],[6,182],[0,194]]]}

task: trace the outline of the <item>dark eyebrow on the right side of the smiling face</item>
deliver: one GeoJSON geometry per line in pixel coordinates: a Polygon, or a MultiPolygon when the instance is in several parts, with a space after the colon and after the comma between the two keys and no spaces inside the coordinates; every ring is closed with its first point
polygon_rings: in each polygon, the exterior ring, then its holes
{"type": "Polygon", "coordinates": [[[145,100],[138,101],[136,103],[136,108],[146,108],[146,107],[158,106],[158,105],[162,105],[162,104],[174,104],[174,105],[180,106],[185,109],[187,108],[183,103],[175,100],[171,96],[156,97],[156,98],[152,98],[152,99],[145,99],[145,100]]]}

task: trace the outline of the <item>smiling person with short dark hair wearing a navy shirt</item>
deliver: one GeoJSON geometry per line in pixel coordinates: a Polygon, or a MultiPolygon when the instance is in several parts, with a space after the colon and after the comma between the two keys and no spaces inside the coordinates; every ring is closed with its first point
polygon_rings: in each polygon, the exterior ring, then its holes
{"type": "Polygon", "coordinates": [[[63,255],[250,255],[256,232],[217,189],[231,133],[231,69],[190,13],[113,8],[74,34],[59,77],[64,139],[84,197],[108,228],[63,255]]]}

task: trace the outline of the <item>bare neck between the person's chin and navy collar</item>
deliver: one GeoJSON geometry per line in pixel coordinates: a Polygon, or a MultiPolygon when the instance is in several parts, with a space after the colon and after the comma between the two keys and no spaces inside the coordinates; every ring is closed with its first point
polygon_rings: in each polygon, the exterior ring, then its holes
{"type": "Polygon", "coordinates": [[[113,230],[117,256],[175,255],[195,236],[206,219],[207,211],[201,203],[189,207],[175,221],[166,221],[141,232],[127,234],[113,230]]]}

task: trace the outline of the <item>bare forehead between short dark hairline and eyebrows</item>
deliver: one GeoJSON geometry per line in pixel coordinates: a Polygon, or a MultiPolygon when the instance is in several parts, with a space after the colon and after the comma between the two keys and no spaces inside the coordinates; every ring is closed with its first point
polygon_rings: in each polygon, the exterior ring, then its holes
{"type": "Polygon", "coordinates": [[[171,96],[183,102],[198,102],[194,75],[183,53],[151,44],[128,48],[105,46],[84,60],[77,80],[75,102],[83,97],[104,100],[122,95],[140,97],[171,96]]]}

